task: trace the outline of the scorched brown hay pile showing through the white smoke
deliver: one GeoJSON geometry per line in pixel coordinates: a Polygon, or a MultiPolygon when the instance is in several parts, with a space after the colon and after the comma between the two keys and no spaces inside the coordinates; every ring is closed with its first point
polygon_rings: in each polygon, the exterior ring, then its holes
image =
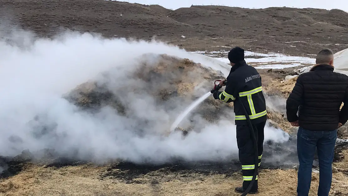
{"type": "MultiPolygon", "coordinates": [[[[103,83],[86,82],[65,97],[85,110],[98,110],[107,105],[117,110],[119,114],[127,116],[129,111],[122,93],[125,91],[143,93],[145,90],[147,94],[155,98],[156,104],[168,106],[166,109],[169,111],[176,108],[177,103],[188,105],[202,93],[208,92],[216,79],[223,78],[221,72],[206,68],[187,58],[160,55],[155,65],[153,63],[145,61],[135,73],[132,73],[131,77],[136,78],[136,82],[142,84],[141,86],[122,84],[120,87],[123,89],[110,88],[112,78],[105,73],[103,83]]],[[[233,103],[222,103],[210,96],[194,113],[201,115],[209,122],[214,122],[219,117],[217,113],[223,113],[227,107],[231,106],[233,103]]],[[[186,128],[192,129],[192,127],[186,128]]]]}

